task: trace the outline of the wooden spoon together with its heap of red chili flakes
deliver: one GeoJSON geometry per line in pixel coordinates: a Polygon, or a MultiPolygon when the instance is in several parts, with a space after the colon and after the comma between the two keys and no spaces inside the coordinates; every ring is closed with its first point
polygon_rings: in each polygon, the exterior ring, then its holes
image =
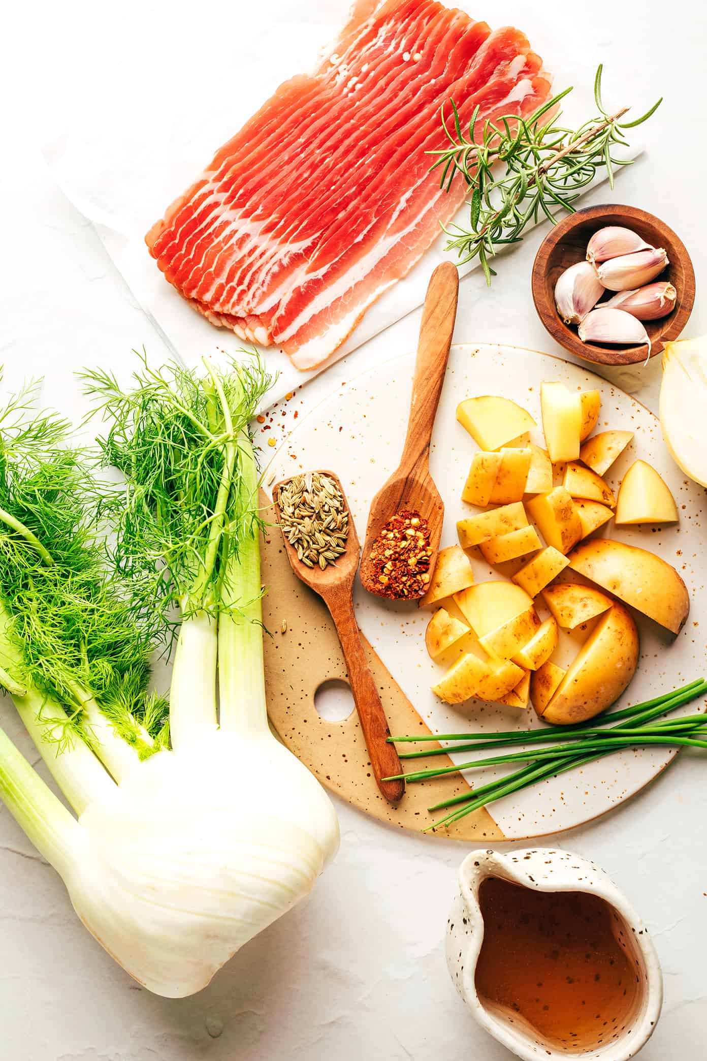
{"type": "Polygon", "coordinates": [[[360,580],[369,593],[394,601],[421,597],[437,563],[444,503],[429,473],[429,443],[458,293],[457,268],[443,262],[432,273],[425,297],[401,463],[373,498],[368,517],[360,580]]]}

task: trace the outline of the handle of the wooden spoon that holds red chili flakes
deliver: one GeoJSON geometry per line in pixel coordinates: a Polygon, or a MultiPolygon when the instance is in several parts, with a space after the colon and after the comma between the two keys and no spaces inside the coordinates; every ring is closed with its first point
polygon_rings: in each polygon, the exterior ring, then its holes
{"type": "Polygon", "coordinates": [[[457,316],[459,273],[442,262],[432,273],[420,326],[412,398],[401,467],[413,468],[429,453],[429,440],[440,402],[457,316]]]}

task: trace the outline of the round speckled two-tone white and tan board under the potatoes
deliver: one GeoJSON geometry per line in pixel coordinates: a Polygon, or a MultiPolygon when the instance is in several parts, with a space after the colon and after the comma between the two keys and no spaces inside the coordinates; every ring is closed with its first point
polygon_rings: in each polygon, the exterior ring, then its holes
{"type": "MultiPolygon", "coordinates": [[[[331,468],[341,479],[354,520],[363,536],[370,499],[397,465],[405,435],[413,364],[413,354],[395,358],[359,376],[321,402],[302,419],[276,452],[267,479],[273,482],[299,471],[331,468]]],[[[615,529],[609,522],[608,529],[602,528],[599,532],[657,553],[677,568],[690,592],[690,618],[677,638],[636,613],[641,638],[641,660],[621,705],[637,703],[703,675],[703,631],[707,629],[703,604],[704,576],[700,573],[704,544],[702,523],[705,491],[686,480],[673,464],[662,443],[659,423],[649,410],[600,377],[550,354],[507,346],[454,346],[430,455],[431,472],[446,506],[442,546],[456,543],[457,520],[474,511],[471,506],[462,503],[461,490],[477,447],[456,420],[458,402],[476,395],[503,395],[512,398],[535,419],[538,427],[532,432],[531,438],[543,445],[540,384],[544,380],[558,380],[572,388],[597,388],[601,393],[602,406],[596,430],[620,428],[635,432],[633,441],[605,476],[609,485],[616,490],[626,468],[637,457],[641,457],[652,464],[666,480],[681,512],[681,521],[676,526],[615,529]]],[[[267,436],[263,436],[265,437],[267,436]]],[[[276,570],[280,572],[280,589],[284,590],[286,587],[286,592],[280,594],[281,603],[276,607],[279,587],[271,587],[272,603],[268,603],[267,597],[265,602],[266,626],[273,631],[268,657],[271,708],[275,707],[271,694],[278,690],[276,714],[279,717],[273,719],[275,725],[283,740],[323,783],[355,805],[382,820],[406,828],[421,830],[431,824],[435,817],[425,810],[425,797],[429,794],[413,793],[419,786],[408,786],[401,813],[397,814],[386,807],[384,801],[375,800],[372,796],[374,782],[371,778],[360,776],[365,760],[361,760],[356,769],[348,768],[348,750],[351,751],[352,743],[357,740],[355,716],[339,724],[324,721],[317,714],[314,707],[316,689],[330,673],[334,674],[336,667],[340,669],[340,665],[332,663],[336,653],[331,638],[326,640],[328,636],[322,632],[325,624],[323,618],[310,622],[308,627],[302,621],[298,627],[298,616],[304,615],[314,601],[310,601],[306,595],[302,597],[301,593],[299,597],[295,596],[294,585],[286,578],[282,564],[278,562],[278,537],[279,533],[272,530],[266,549],[266,571],[269,569],[273,573],[276,570]],[[285,611],[290,616],[290,625],[287,633],[282,634],[280,618],[286,618],[285,611]],[[285,639],[290,639],[290,647],[283,656],[285,639]],[[286,666],[283,665],[285,656],[286,666]],[[285,671],[290,680],[287,682],[288,690],[283,692],[283,679],[287,681],[285,671]],[[409,812],[404,813],[407,800],[410,801],[410,807],[409,812]]],[[[476,581],[502,577],[498,570],[490,568],[480,556],[474,555],[475,552],[472,551],[471,556],[476,581]]],[[[300,590],[303,589],[300,586],[300,590]]],[[[408,732],[420,732],[414,710],[432,733],[541,726],[532,709],[517,711],[478,700],[470,700],[460,708],[441,703],[430,692],[430,685],[439,679],[442,671],[428,658],[424,645],[424,631],[430,610],[373,597],[365,593],[359,585],[356,587],[355,602],[359,626],[374,654],[384,664],[381,671],[384,677],[379,683],[389,672],[400,710],[403,711],[403,700],[408,705],[408,732]],[[416,721],[417,726],[413,728],[416,721]]],[[[543,613],[542,608],[538,611],[543,613]]],[[[559,662],[570,659],[577,647],[577,644],[572,645],[565,638],[560,647],[565,659],[561,655],[559,662]]],[[[392,703],[393,700],[389,698],[390,710],[392,703]]],[[[686,710],[694,711],[696,706],[692,705],[686,710]]],[[[405,717],[405,712],[391,719],[393,732],[394,723],[401,717],[405,717]]],[[[360,745],[360,741],[358,744],[360,745]]],[[[484,754],[489,752],[480,752],[479,758],[484,754]]],[[[456,761],[469,762],[474,758],[476,756],[473,754],[464,753],[463,756],[456,756],[456,761]]],[[[672,752],[661,748],[618,752],[590,763],[581,770],[568,771],[560,778],[490,804],[487,808],[488,816],[481,816],[473,822],[470,820],[466,829],[455,835],[470,840],[482,837],[490,839],[494,838],[490,834],[495,832],[495,838],[527,839],[570,829],[604,814],[633,796],[655,778],[672,758],[672,752]]],[[[437,762],[439,764],[439,760],[437,762]]],[[[424,761],[418,762],[416,768],[422,765],[424,761]]],[[[466,777],[470,782],[478,785],[501,772],[507,771],[474,770],[469,771],[466,777]]],[[[445,794],[453,795],[455,789],[452,780],[441,784],[445,786],[445,794]]],[[[436,785],[436,797],[438,790],[439,786],[436,785]]]]}

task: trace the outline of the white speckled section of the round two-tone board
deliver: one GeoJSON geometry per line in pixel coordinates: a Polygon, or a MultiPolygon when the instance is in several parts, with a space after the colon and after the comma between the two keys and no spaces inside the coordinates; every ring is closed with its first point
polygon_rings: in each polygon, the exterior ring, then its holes
{"type": "MultiPolygon", "coordinates": [[[[413,354],[382,364],[340,388],[318,405],[275,454],[270,473],[277,479],[295,471],[329,467],[340,476],[357,527],[365,529],[370,499],[397,465],[405,434],[413,354]]],[[[675,639],[642,615],[636,615],[641,638],[641,661],[621,703],[637,703],[701,677],[705,668],[704,550],[702,523],[705,491],[686,480],[671,460],[656,417],[643,405],[605,380],[549,354],[506,346],[455,346],[437,417],[431,448],[431,471],[445,501],[442,545],[457,541],[456,521],[471,511],[461,490],[476,445],[457,422],[461,399],[474,395],[505,395],[541,421],[540,384],[559,380],[570,387],[598,388],[602,396],[598,430],[633,430],[635,437],[609,469],[606,479],[617,487],[636,457],[652,464],[670,486],[681,521],[665,528],[614,528],[607,537],[653,550],[674,564],[690,591],[691,614],[675,639]]],[[[540,427],[533,441],[543,442],[540,427]]],[[[601,533],[601,532],[600,532],[601,533]]],[[[500,577],[473,557],[477,581],[500,577]]],[[[432,732],[526,729],[541,724],[534,712],[515,711],[470,700],[461,708],[441,703],[430,692],[441,668],[428,658],[424,631],[428,610],[393,604],[366,594],[357,587],[358,622],[388,669],[432,732]]],[[[542,608],[538,608],[542,612],[542,608]]],[[[566,659],[577,651],[567,641],[560,651],[566,659]]],[[[562,656],[560,662],[564,662],[562,656]]],[[[693,705],[690,710],[695,710],[693,705]]],[[[479,753],[479,758],[488,752],[479,753]]],[[[454,756],[453,756],[454,758],[454,756]]],[[[475,756],[464,753],[463,760],[475,756]]],[[[538,836],[569,829],[603,814],[630,798],[656,777],[673,758],[667,749],[622,751],[570,771],[552,781],[507,797],[489,806],[509,839],[538,836]]],[[[499,776],[490,769],[470,771],[470,781],[482,784],[499,776]]]]}

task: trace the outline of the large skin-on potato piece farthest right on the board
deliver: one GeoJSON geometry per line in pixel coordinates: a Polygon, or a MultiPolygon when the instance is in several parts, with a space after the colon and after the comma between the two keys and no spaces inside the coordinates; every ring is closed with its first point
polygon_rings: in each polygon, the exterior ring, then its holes
{"type": "Polygon", "coordinates": [[[685,582],[655,553],[593,538],[570,553],[569,566],[673,633],[685,625],[690,612],[685,582]]]}

